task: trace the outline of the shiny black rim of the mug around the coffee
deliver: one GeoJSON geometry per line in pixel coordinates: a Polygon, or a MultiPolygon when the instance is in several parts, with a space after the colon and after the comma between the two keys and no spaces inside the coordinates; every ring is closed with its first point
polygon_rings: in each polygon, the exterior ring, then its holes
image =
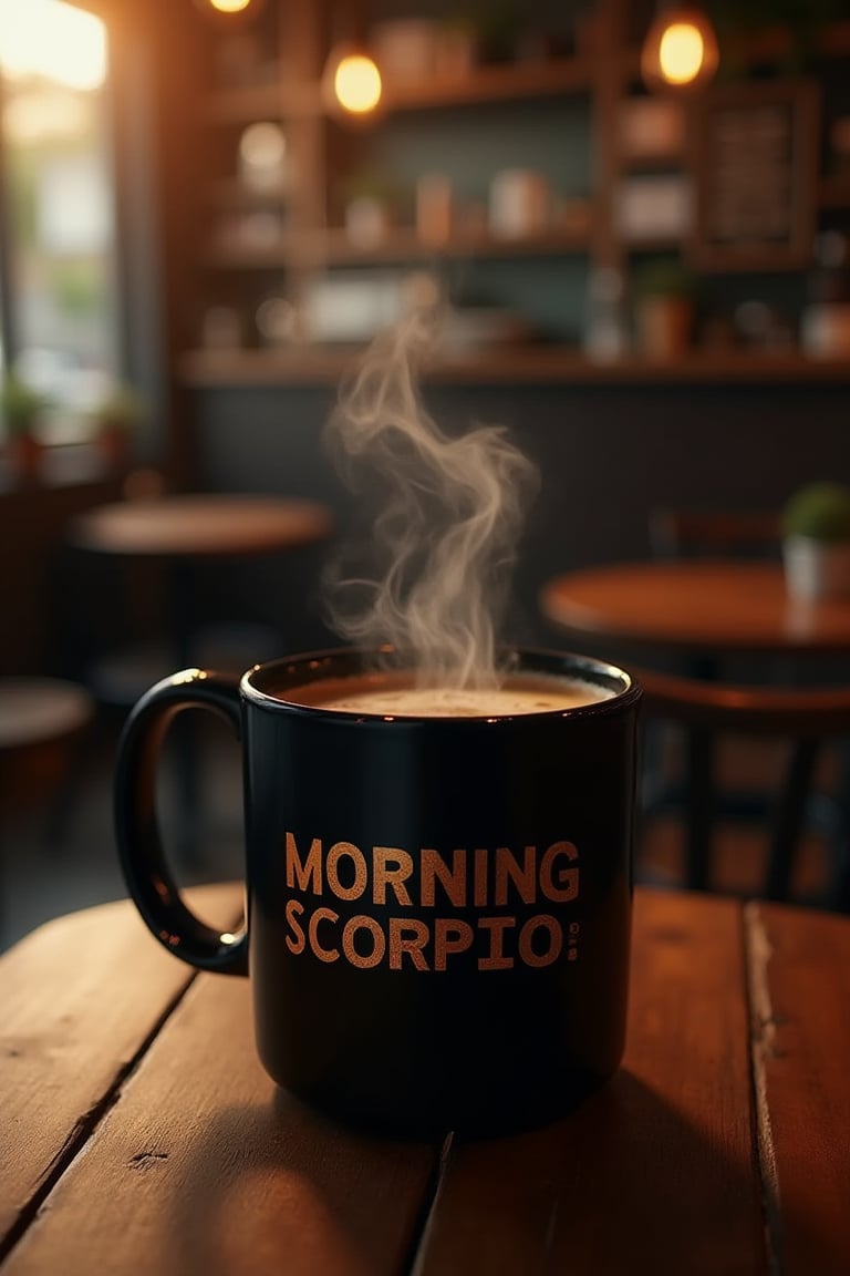
{"type": "MultiPolygon", "coordinates": [[[[517,661],[517,672],[543,674],[554,678],[584,678],[584,680],[607,685],[613,689],[613,694],[601,701],[591,701],[587,704],[576,704],[570,708],[538,709],[529,713],[480,713],[480,715],[450,715],[450,713],[375,713],[362,709],[329,709],[324,704],[302,704],[298,701],[287,699],[283,692],[274,694],[264,690],[256,684],[257,678],[279,674],[283,669],[292,674],[292,685],[321,681],[329,678],[357,676],[372,671],[380,672],[375,665],[377,655],[384,657],[400,657],[401,653],[393,646],[384,643],[378,647],[331,647],[321,651],[299,652],[293,656],[280,656],[274,660],[263,661],[254,665],[241,678],[240,692],[245,701],[260,708],[298,713],[306,717],[324,717],[334,722],[364,722],[391,726],[394,723],[422,723],[435,726],[437,723],[451,722],[452,729],[463,729],[482,723],[492,725],[498,722],[534,722],[551,721],[554,718],[576,718],[612,713],[624,706],[630,706],[640,699],[641,688],[637,680],[619,665],[601,660],[599,656],[587,656],[582,652],[558,651],[545,647],[511,646],[505,648],[505,653],[511,660],[517,661]],[[530,661],[530,665],[522,662],[530,661]],[[342,669],[339,666],[343,666],[342,669]],[[547,667],[548,666],[548,667],[547,667]],[[619,689],[616,689],[617,684],[619,689]]],[[[393,667],[391,665],[389,666],[393,667]]],[[[399,670],[412,669],[410,664],[403,660],[395,666],[399,670]]],[[[512,671],[512,670],[508,670],[512,671]]],[[[285,690],[285,689],[284,689],[285,690]]]]}

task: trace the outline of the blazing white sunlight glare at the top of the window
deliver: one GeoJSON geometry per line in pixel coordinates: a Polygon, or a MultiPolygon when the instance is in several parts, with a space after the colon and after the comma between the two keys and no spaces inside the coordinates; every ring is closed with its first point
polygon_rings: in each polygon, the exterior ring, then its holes
{"type": "Polygon", "coordinates": [[[10,78],[96,89],[106,60],[106,27],[94,14],[62,0],[0,0],[0,69],[10,78]]]}

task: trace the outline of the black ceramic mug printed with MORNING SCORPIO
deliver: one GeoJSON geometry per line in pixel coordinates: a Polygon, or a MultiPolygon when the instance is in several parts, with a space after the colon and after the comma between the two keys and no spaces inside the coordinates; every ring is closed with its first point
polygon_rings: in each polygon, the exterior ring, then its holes
{"type": "Polygon", "coordinates": [[[375,1133],[545,1123],[622,1057],[640,689],[580,656],[514,665],[520,680],[605,698],[474,717],[329,708],[324,688],[368,669],[340,649],[241,683],[177,674],[124,732],[117,840],[148,926],[194,966],[250,968],[270,1076],[375,1133]],[[234,937],[186,909],[157,829],[157,760],[189,707],[223,715],[242,741],[247,924],[234,937]]]}

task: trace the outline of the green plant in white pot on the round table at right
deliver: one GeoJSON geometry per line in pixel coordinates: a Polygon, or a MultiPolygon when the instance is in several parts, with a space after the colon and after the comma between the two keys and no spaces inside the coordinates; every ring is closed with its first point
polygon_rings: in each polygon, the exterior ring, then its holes
{"type": "Polygon", "coordinates": [[[807,484],[785,505],[782,531],[789,593],[805,600],[850,595],[850,486],[807,484]]]}

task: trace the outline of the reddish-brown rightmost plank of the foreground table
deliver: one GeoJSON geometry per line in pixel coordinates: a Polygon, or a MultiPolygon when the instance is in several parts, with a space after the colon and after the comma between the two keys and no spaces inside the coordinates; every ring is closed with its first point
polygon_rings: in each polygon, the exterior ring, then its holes
{"type": "Polygon", "coordinates": [[[777,1270],[850,1271],[850,917],[751,905],[762,1156],[777,1270]]]}

